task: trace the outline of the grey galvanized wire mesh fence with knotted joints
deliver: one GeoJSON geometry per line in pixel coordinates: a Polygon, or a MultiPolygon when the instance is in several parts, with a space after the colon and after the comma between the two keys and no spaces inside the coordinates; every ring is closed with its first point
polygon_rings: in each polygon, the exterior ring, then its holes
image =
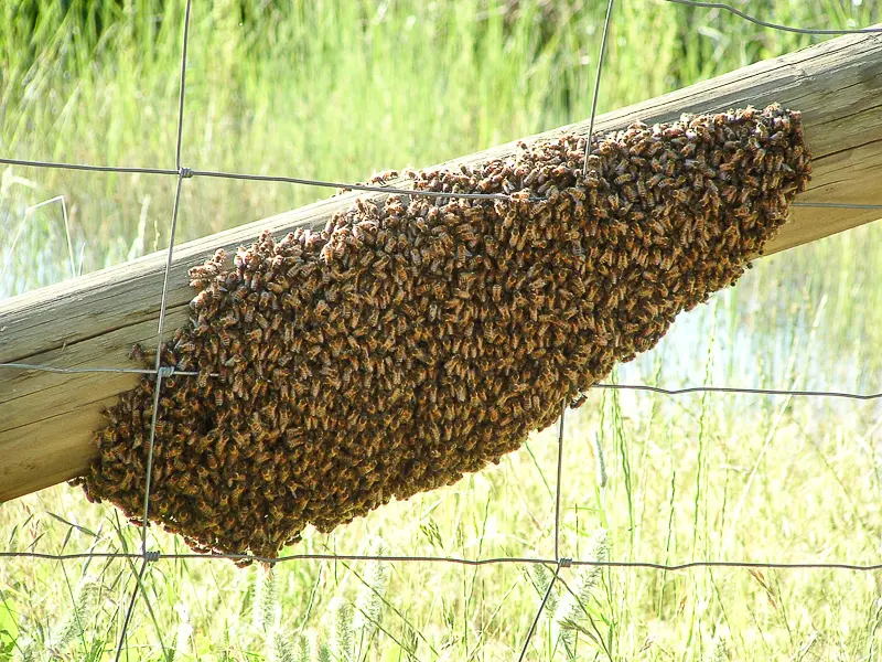
{"type": "MultiPolygon", "coordinates": [[[[721,2],[700,2],[696,0],[666,0],[675,4],[691,6],[703,9],[719,9],[731,12],[741,19],[778,31],[793,32],[799,34],[814,34],[814,35],[835,35],[835,34],[881,34],[882,28],[861,28],[861,29],[845,29],[845,30],[827,30],[827,29],[804,29],[794,28],[788,25],[781,25],[764,21],[746,14],[745,12],[721,2]]],[[[660,564],[654,562],[616,562],[616,560],[582,560],[561,556],[560,554],[560,510],[561,510],[561,485],[563,481],[563,439],[564,439],[564,415],[567,409],[567,402],[562,403],[561,415],[558,428],[558,457],[557,457],[557,480],[555,491],[555,524],[553,524],[553,558],[544,557],[495,557],[495,558],[455,558],[447,556],[394,556],[394,555],[369,555],[369,554],[293,554],[279,557],[256,557],[247,554],[200,554],[200,553],[183,553],[183,554],[165,554],[158,551],[148,549],[148,533],[150,527],[150,490],[151,490],[151,474],[153,462],[153,449],[155,441],[157,419],[160,408],[160,392],[162,388],[163,378],[171,375],[186,375],[195,376],[198,373],[195,371],[178,371],[173,367],[162,366],[161,348],[162,338],[164,332],[165,311],[169,298],[169,281],[171,275],[172,258],[174,253],[174,239],[178,225],[178,215],[181,203],[181,189],[184,179],[194,177],[207,178],[222,178],[222,179],[236,179],[249,180],[259,182],[282,182],[297,185],[312,185],[323,188],[334,188],[349,191],[362,191],[370,193],[386,193],[386,194],[400,194],[400,195],[424,195],[432,197],[450,197],[450,199],[471,199],[471,200],[510,200],[509,195],[499,193],[461,193],[461,192],[438,192],[438,191],[421,191],[415,189],[398,189],[392,186],[359,184],[359,183],[345,183],[334,182],[326,180],[303,179],[295,177],[282,175],[259,175],[247,174],[238,172],[222,172],[211,170],[195,170],[182,166],[181,152],[183,143],[183,124],[184,124],[184,100],[186,88],[186,60],[187,60],[187,42],[190,38],[191,24],[191,4],[192,0],[187,0],[184,21],[183,21],[183,40],[181,52],[181,70],[180,70],[180,90],[178,98],[178,135],[175,145],[175,168],[140,168],[140,167],[116,167],[116,166],[92,166],[80,163],[64,163],[64,162],[50,162],[50,161],[31,161],[23,159],[0,158],[0,163],[9,166],[20,166],[26,168],[50,168],[50,169],[66,169],[66,170],[80,170],[88,172],[114,172],[114,173],[140,173],[140,174],[158,174],[158,175],[173,175],[176,178],[176,185],[174,192],[174,204],[170,221],[170,239],[166,250],[165,269],[163,274],[162,295],[160,299],[159,310],[159,324],[157,331],[157,359],[155,366],[151,369],[132,369],[132,367],[56,367],[30,363],[0,363],[0,367],[21,370],[21,371],[44,371],[51,373],[62,374],[82,374],[82,373],[135,373],[142,375],[155,376],[155,388],[153,391],[153,413],[150,421],[150,439],[148,444],[148,461],[147,461],[147,476],[143,500],[143,514],[142,514],[142,530],[141,530],[141,551],[140,553],[117,553],[117,552],[88,552],[88,553],[72,553],[72,554],[49,554],[40,552],[0,552],[0,558],[32,558],[32,559],[46,559],[46,560],[69,560],[80,558],[128,558],[141,559],[140,569],[136,575],[136,586],[132,589],[128,607],[126,610],[122,628],[116,651],[116,660],[119,660],[123,650],[129,623],[135,609],[138,594],[143,595],[144,600],[149,600],[147,592],[143,590],[141,580],[151,563],[157,563],[163,559],[230,559],[230,560],[245,560],[251,559],[259,563],[275,565],[286,562],[308,562],[308,560],[374,560],[374,562],[410,562],[410,563],[443,563],[443,564],[459,564],[465,566],[484,566],[495,564],[542,564],[546,566],[553,566],[555,572],[545,590],[544,597],[536,612],[536,616],[530,624],[527,636],[524,640],[524,645],[520,650],[519,660],[523,660],[529,650],[530,639],[536,630],[536,627],[541,617],[542,610],[548,602],[549,596],[555,588],[556,581],[560,578],[560,572],[563,568],[571,566],[596,566],[606,568],[645,568],[665,572],[687,570],[692,568],[767,568],[767,569],[842,569],[842,570],[857,570],[857,572],[875,572],[882,570],[882,563],[879,564],[849,564],[849,563],[785,563],[785,562],[747,562],[747,560],[691,560],[679,564],[660,564]]],[[[606,6],[606,14],[603,24],[603,33],[601,38],[600,55],[598,58],[598,70],[594,79],[594,90],[591,102],[591,116],[589,120],[588,140],[585,151],[591,146],[591,136],[593,135],[594,119],[596,116],[598,98],[600,93],[601,75],[603,73],[606,39],[609,35],[611,18],[614,9],[614,0],[609,0],[606,6]]],[[[882,210],[880,204],[858,204],[848,202],[794,202],[794,206],[805,207],[827,207],[827,209],[851,209],[851,210],[882,210]]],[[[217,376],[217,375],[212,375],[217,376]]],[[[622,391],[636,391],[636,392],[652,392],[656,394],[677,396],[691,393],[718,393],[718,394],[746,394],[746,395],[765,395],[765,396],[808,396],[808,397],[835,397],[848,398],[857,401],[872,401],[882,398],[882,392],[859,394],[837,391],[794,391],[794,389],[775,389],[775,388],[741,388],[741,387],[721,387],[721,386],[691,386],[684,388],[663,388],[659,386],[652,386],[646,384],[594,384],[592,388],[607,388],[607,389],[622,389],[622,391]]]]}

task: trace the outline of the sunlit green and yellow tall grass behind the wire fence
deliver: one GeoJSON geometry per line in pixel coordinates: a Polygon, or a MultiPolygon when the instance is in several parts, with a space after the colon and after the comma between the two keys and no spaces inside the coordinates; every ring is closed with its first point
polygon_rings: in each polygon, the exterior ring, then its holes
{"type": "MultiPolygon", "coordinates": [[[[739,7],[794,25],[880,20],[872,2],[739,7]]],[[[4,4],[0,152],[173,167],[182,9],[181,0],[4,4]]],[[[587,117],[604,11],[539,0],[194,3],[183,162],[356,180],[587,117]]],[[[600,109],[813,41],[717,10],[623,0],[600,109]]],[[[28,207],[65,196],[75,268],[86,273],[163,248],[172,186],[162,177],[6,170],[0,295],[71,273],[60,205],[28,207]]],[[[326,194],[187,181],[180,238],[326,194]]],[[[757,263],[611,378],[878,389],[880,232],[865,226],[757,263]]],[[[568,416],[562,553],[875,563],[881,416],[872,402],[595,391],[568,416]]],[[[332,535],[312,532],[290,552],[550,556],[556,466],[551,429],[498,467],[332,535]]],[[[0,506],[2,549],[137,551],[139,540],[118,512],[65,485],[0,506]]],[[[150,540],[186,551],[155,530],[150,540]]],[[[126,559],[2,559],[0,660],[112,659],[137,569],[126,559]]],[[[567,568],[561,577],[529,660],[882,659],[878,573],[567,568]]],[[[519,564],[292,562],[268,577],[226,562],[162,560],[144,575],[123,659],[301,660],[308,649],[310,659],[359,662],[510,660],[542,581],[519,564]]]]}

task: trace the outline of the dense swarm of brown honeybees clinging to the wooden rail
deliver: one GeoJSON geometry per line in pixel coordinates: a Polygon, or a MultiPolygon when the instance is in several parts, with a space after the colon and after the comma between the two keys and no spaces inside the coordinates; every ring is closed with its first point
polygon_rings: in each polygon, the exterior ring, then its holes
{"type": "MultiPolygon", "coordinates": [[[[161,361],[198,376],[163,381],[151,515],[194,549],[271,557],[498,462],[733,284],[809,179],[778,106],[635,124],[587,169],[584,140],[410,173],[505,199],[359,199],[192,269],[161,361]]],[[[153,388],[120,396],[76,481],[136,521],[153,388]]]]}

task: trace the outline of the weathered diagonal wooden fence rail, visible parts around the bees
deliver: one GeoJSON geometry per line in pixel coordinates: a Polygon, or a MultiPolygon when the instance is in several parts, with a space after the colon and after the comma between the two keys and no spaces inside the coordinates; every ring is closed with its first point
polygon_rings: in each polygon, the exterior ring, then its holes
{"type": "MultiPolygon", "coordinates": [[[[803,111],[814,159],[810,189],[799,202],[882,202],[882,40],[848,35],[764,61],[723,76],[598,118],[600,131],[637,119],[671,120],[778,102],[803,111]]],[[[588,121],[527,138],[584,134],[588,121]]],[[[507,157],[509,142],[447,164],[507,157]]],[[[198,185],[186,180],[184,185],[198,185]]],[[[399,180],[391,185],[407,186],[399,180]]],[[[365,194],[363,194],[365,195],[365,194]]],[[[175,247],[165,329],[187,320],[187,269],[218,247],[235,252],[260,231],[283,234],[323,226],[355,193],[243,225],[175,247]]],[[[875,221],[882,212],[794,207],[767,253],[875,221]]],[[[131,367],[135,342],[154,343],[165,254],[144,256],[75,280],[0,302],[0,363],[63,367],[131,367]]],[[[14,499],[80,474],[94,457],[90,434],[100,408],[135,385],[130,374],[53,374],[0,369],[0,501],[14,499]]]]}

